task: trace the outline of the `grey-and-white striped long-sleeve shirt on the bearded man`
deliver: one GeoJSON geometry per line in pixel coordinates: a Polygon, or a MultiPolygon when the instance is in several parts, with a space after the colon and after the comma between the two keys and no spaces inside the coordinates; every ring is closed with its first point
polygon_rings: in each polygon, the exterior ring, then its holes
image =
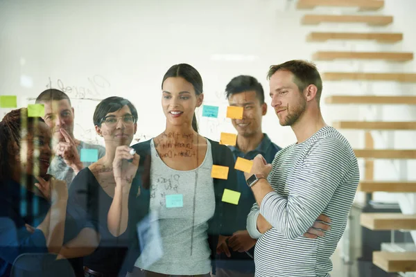
{"type": "Polygon", "coordinates": [[[248,232],[258,238],[256,276],[329,276],[329,258],[345,230],[358,180],[355,154],[333,127],[277,152],[268,176],[275,191],[260,207],[254,204],[247,220],[248,232]],[[263,235],[259,213],[272,225],[263,235]],[[305,238],[320,214],[331,218],[331,230],[323,238],[305,238]]]}

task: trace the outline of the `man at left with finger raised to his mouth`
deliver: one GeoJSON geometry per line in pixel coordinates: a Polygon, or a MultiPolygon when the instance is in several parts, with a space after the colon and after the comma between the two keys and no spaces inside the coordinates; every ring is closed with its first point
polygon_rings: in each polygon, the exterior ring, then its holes
{"type": "Polygon", "coordinates": [[[36,98],[36,104],[43,104],[45,114],[42,119],[51,128],[55,157],[51,161],[48,173],[56,179],[71,184],[80,170],[92,164],[81,162],[81,149],[98,150],[98,159],[104,156],[105,148],[79,141],[73,137],[74,110],[66,93],[58,89],[46,89],[36,98]]]}

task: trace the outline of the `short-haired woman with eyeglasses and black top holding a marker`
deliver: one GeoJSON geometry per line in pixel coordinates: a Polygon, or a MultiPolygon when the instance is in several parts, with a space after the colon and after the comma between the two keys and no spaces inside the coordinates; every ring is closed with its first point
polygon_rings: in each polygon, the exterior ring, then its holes
{"type": "Polygon", "coordinates": [[[107,214],[118,193],[116,184],[120,188],[131,183],[139,165],[139,155],[129,147],[137,131],[137,110],[124,98],[106,98],[96,107],[94,125],[104,139],[105,156],[76,175],[69,198],[87,211],[85,220],[95,229],[83,229],[60,254],[65,258],[83,256],[86,277],[113,277],[119,276],[123,265],[128,233],[114,237],[107,229],[107,214]]]}

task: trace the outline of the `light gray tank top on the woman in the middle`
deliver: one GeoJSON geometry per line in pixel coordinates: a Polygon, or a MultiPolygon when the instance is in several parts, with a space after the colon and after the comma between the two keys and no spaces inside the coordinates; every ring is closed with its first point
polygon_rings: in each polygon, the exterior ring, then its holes
{"type": "Polygon", "coordinates": [[[215,211],[211,143],[207,140],[201,165],[187,171],[166,166],[153,139],[150,149],[150,212],[159,225],[162,258],[149,265],[155,249],[146,247],[135,266],[161,274],[207,274],[211,270],[207,222],[215,211]]]}

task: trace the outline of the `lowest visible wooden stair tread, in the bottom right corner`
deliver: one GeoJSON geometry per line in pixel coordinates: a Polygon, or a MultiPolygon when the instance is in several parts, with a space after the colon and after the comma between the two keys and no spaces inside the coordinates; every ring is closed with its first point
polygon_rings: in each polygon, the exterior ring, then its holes
{"type": "Polygon", "coordinates": [[[416,252],[374,251],[373,263],[386,272],[416,271],[416,252]]]}

